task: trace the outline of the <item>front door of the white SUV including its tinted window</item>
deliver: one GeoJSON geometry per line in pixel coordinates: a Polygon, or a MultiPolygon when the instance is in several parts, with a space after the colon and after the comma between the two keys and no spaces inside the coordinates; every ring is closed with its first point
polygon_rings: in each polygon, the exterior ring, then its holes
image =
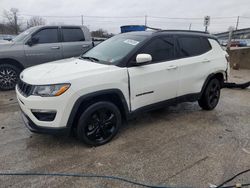
{"type": "Polygon", "coordinates": [[[172,36],[154,38],[135,57],[141,53],[150,54],[152,62],[128,68],[131,109],[136,110],[168,99],[175,100],[179,84],[175,39],[172,36]]]}

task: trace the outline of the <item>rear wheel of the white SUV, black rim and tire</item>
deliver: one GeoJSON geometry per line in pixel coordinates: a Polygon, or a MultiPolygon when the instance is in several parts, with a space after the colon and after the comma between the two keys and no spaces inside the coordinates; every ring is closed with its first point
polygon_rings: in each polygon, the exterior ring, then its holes
{"type": "Polygon", "coordinates": [[[218,79],[213,78],[207,84],[201,98],[198,100],[200,107],[204,110],[213,110],[220,99],[221,85],[218,79]]]}

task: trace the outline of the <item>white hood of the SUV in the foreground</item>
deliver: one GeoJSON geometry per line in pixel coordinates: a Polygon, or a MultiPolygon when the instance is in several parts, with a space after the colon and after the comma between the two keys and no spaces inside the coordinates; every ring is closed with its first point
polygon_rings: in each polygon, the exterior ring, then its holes
{"type": "Polygon", "coordinates": [[[116,66],[70,58],[25,69],[20,78],[32,85],[67,83],[79,77],[100,74],[114,67],[116,66]]]}

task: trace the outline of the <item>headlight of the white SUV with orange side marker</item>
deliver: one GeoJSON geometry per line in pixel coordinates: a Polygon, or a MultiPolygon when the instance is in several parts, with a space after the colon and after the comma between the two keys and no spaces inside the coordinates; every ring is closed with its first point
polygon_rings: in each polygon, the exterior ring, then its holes
{"type": "Polygon", "coordinates": [[[70,84],[55,84],[55,85],[41,85],[35,86],[32,95],[41,97],[60,96],[70,87],[70,84]]]}

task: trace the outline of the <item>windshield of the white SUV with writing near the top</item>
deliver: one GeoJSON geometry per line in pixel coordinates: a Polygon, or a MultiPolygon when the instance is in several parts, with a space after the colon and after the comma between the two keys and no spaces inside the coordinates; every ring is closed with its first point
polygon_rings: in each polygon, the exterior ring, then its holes
{"type": "Polygon", "coordinates": [[[82,58],[89,57],[101,63],[117,65],[146,38],[142,35],[117,35],[89,50],[82,58]]]}

